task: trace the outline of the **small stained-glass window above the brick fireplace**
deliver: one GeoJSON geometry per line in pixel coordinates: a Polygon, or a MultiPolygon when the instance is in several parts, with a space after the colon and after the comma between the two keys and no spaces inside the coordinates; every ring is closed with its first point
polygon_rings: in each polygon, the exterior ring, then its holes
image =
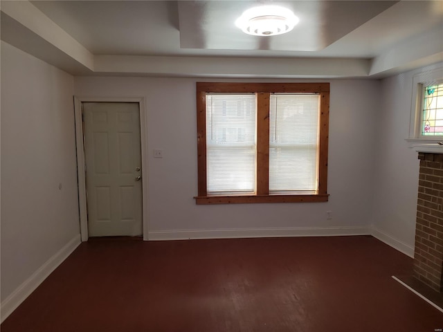
{"type": "Polygon", "coordinates": [[[443,84],[424,86],[421,135],[443,136],[443,84]]]}

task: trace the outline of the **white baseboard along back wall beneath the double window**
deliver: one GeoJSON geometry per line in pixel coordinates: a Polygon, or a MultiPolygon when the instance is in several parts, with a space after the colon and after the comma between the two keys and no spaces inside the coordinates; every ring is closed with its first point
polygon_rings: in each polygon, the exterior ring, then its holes
{"type": "Polygon", "coordinates": [[[297,227],[248,228],[234,230],[168,230],[151,231],[149,240],[235,239],[246,237],[334,237],[342,235],[370,235],[367,227],[297,227]]]}

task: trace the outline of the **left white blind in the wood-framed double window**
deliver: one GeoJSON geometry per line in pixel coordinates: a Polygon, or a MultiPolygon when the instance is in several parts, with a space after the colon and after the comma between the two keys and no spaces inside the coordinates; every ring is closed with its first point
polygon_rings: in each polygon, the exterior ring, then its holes
{"type": "Polygon", "coordinates": [[[206,95],[208,194],[255,192],[255,94],[206,95]]]}

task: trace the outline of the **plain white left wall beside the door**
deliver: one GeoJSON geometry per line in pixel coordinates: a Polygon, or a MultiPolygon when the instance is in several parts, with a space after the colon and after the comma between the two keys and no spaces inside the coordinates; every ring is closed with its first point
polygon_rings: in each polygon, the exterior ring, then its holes
{"type": "Polygon", "coordinates": [[[75,163],[73,77],[1,42],[2,319],[78,237],[75,163]]]}

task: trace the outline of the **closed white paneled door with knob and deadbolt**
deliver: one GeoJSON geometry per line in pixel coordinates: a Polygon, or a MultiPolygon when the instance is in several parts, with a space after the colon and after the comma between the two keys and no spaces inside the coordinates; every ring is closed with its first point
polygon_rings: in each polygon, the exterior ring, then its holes
{"type": "Polygon", "coordinates": [[[142,225],[136,102],[83,102],[89,237],[137,236],[142,225]]]}

